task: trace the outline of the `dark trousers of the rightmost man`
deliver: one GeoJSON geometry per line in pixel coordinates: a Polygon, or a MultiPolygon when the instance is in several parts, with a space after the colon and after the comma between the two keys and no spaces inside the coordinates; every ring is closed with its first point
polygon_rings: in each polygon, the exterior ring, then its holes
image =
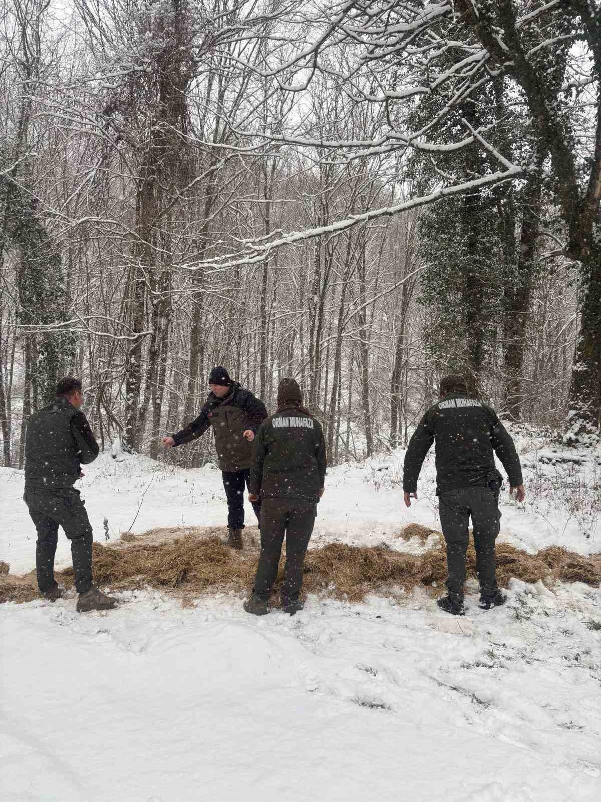
{"type": "Polygon", "coordinates": [[[446,541],[446,565],[449,573],[446,586],[451,599],[463,600],[470,518],[474,527],[476,573],[480,592],[494,596],[498,590],[494,541],[499,533],[501,518],[498,486],[495,483],[493,487],[458,488],[441,493],[438,496],[438,512],[446,541]]]}

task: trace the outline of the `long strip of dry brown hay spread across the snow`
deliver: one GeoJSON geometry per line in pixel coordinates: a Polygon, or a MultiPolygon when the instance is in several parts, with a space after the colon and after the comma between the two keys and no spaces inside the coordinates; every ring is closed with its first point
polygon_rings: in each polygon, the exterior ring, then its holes
{"type": "MultiPolygon", "coordinates": [[[[409,537],[420,537],[412,525],[409,537]]],[[[180,530],[181,531],[181,530],[180,530]]],[[[144,535],[127,533],[123,543],[115,546],[94,544],[94,573],[99,585],[112,589],[136,589],[146,585],[175,591],[185,597],[205,592],[249,591],[256,571],[258,549],[252,536],[246,536],[243,552],[232,551],[217,537],[219,529],[188,529],[182,537],[178,530],[151,530],[144,535]],[[160,537],[157,537],[160,533],[160,537]],[[166,534],[171,535],[165,540],[166,534]]],[[[433,530],[426,530],[426,539],[433,530]],[[427,532],[427,534],[426,534],[427,532]]],[[[466,569],[475,577],[475,552],[470,543],[466,569]]],[[[6,565],[6,564],[4,564],[6,565]]],[[[506,586],[512,577],[526,582],[542,580],[550,585],[555,580],[581,581],[599,587],[601,555],[580,557],[559,546],[551,546],[537,554],[527,554],[514,546],[497,545],[497,577],[506,586]]],[[[283,561],[280,566],[281,571],[283,561]]],[[[387,594],[395,587],[410,591],[416,585],[435,586],[442,591],[446,578],[446,552],[439,538],[438,545],[423,554],[405,554],[385,546],[351,546],[330,543],[309,549],[305,561],[304,589],[307,593],[359,602],[368,593],[387,594]]],[[[73,585],[73,570],[59,572],[58,581],[73,585]]],[[[37,597],[34,573],[26,577],[0,575],[0,602],[27,602],[37,597]]]]}

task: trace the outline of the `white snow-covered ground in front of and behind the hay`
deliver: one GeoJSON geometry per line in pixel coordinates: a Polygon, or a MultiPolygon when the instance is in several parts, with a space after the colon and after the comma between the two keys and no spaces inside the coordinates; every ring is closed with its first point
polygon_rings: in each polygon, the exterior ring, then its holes
{"type": "MultiPolygon", "coordinates": [[[[502,538],[601,551],[594,504],[583,518],[559,490],[586,495],[595,457],[576,475],[529,445],[534,498],[503,496],[502,538]]],[[[405,510],[402,456],[329,472],[313,545],[423,548],[394,534],[438,529],[433,464],[405,510]]],[[[103,455],[86,472],[99,541],[105,517],[111,540],[224,523],[214,469],[103,455]]],[[[0,470],[0,516],[0,560],[32,569],[22,473],[0,470]]],[[[65,537],[57,562],[70,562],[65,537]]],[[[309,597],[293,618],[248,616],[236,595],[189,610],[151,590],[120,595],[109,614],[76,614],[74,595],[0,606],[3,802],[601,799],[599,589],[514,581],[506,607],[484,612],[472,586],[462,619],[425,590],[362,605],[309,597]]]]}

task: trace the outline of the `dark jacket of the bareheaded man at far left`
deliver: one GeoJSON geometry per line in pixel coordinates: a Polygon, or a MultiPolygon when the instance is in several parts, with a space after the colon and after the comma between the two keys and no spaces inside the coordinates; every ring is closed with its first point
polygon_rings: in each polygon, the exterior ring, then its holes
{"type": "Polygon", "coordinates": [[[99,448],[86,416],[60,395],[31,415],[25,438],[25,486],[61,490],[79,479],[99,448]]]}

